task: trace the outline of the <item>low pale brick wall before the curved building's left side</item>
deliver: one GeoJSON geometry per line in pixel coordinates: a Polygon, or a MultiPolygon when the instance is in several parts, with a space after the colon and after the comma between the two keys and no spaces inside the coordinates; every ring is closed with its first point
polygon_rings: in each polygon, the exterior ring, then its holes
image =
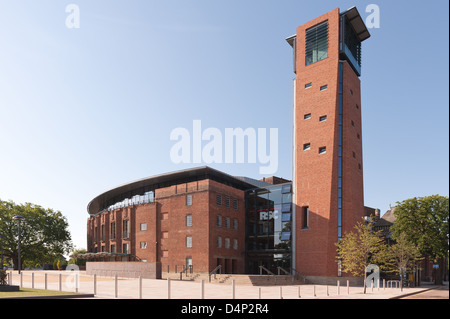
{"type": "Polygon", "coordinates": [[[121,261],[95,261],[86,263],[86,275],[97,275],[107,277],[125,277],[125,278],[142,278],[161,279],[161,263],[147,262],[121,262],[121,261]]]}

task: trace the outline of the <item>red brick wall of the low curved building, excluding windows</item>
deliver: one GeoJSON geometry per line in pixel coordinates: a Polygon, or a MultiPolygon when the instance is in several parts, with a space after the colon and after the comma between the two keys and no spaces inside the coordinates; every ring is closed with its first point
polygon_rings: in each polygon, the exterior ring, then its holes
{"type": "Polygon", "coordinates": [[[148,262],[159,261],[163,271],[180,271],[186,265],[186,258],[192,258],[195,271],[207,272],[222,264],[223,272],[244,272],[245,248],[245,202],[244,192],[212,180],[182,183],[155,191],[155,202],[129,206],[105,212],[88,219],[88,251],[110,252],[111,244],[116,252],[122,251],[122,244],[129,243],[129,253],[148,262]],[[222,195],[222,205],[216,203],[216,196],[222,195]],[[186,195],[192,195],[192,205],[186,205],[186,195]],[[230,199],[226,207],[225,199],[230,199]],[[237,209],[233,208],[237,200],[237,209]],[[186,225],[186,216],[192,216],[192,226],[186,225]],[[216,225],[217,216],[222,216],[222,227],[216,225]],[[226,227],[229,218],[230,227],[226,227]],[[233,228],[237,220],[238,229],[233,228]],[[122,222],[129,220],[128,238],[122,238],[122,222]],[[116,223],[116,238],[110,239],[110,223],[116,223]],[[141,224],[147,230],[141,230],[141,224]],[[100,238],[101,225],[105,225],[104,240],[100,238]],[[97,230],[97,233],[95,233],[97,230]],[[217,247],[217,237],[222,237],[222,247],[217,247]],[[192,247],[186,247],[186,237],[192,237],[192,247]],[[229,238],[230,247],[225,248],[229,238]],[[95,239],[95,240],[94,240],[95,239]],[[233,240],[238,240],[237,249],[233,240]],[[141,248],[146,242],[146,248],[141,248]],[[169,268],[168,268],[169,267],[169,268]]]}

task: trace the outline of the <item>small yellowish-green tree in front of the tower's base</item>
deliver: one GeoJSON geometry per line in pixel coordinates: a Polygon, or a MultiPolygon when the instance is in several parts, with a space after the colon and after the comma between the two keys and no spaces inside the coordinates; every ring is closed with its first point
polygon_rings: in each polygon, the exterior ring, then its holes
{"type": "Polygon", "coordinates": [[[344,273],[364,277],[364,293],[366,293],[366,269],[371,264],[384,268],[387,250],[380,232],[372,230],[372,222],[359,222],[355,231],[345,233],[337,246],[337,261],[344,273]]]}

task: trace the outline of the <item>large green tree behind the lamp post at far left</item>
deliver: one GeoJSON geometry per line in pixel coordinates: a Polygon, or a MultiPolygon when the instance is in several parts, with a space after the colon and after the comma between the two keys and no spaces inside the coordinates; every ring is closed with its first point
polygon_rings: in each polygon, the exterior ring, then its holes
{"type": "Polygon", "coordinates": [[[0,200],[3,254],[12,259],[15,269],[18,267],[18,225],[13,220],[16,215],[25,217],[21,223],[22,265],[52,263],[72,249],[69,225],[61,212],[30,203],[15,204],[0,200]]]}

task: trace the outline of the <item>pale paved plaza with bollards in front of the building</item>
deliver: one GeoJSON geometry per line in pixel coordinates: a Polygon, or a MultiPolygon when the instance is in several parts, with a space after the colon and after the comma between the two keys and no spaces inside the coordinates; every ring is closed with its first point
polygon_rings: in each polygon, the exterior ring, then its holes
{"type": "MultiPolygon", "coordinates": [[[[392,299],[417,294],[436,286],[416,288],[347,287],[336,285],[250,286],[191,282],[166,279],[130,279],[94,277],[84,272],[17,271],[12,272],[12,284],[24,288],[73,291],[94,294],[99,299],[392,299]],[[22,280],[22,282],[21,282],[22,280]],[[76,284],[78,282],[78,284],[76,284]]],[[[448,282],[445,289],[448,290],[448,282]]]]}

